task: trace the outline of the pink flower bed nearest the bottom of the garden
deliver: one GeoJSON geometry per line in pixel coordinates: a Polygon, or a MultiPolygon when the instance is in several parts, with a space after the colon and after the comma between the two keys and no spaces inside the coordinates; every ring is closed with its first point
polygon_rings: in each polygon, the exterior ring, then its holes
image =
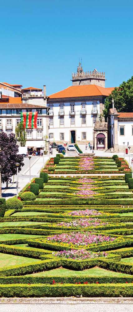
{"type": "Polygon", "coordinates": [[[58,252],[52,252],[52,254],[56,257],[66,258],[66,259],[74,259],[74,260],[87,260],[87,259],[94,259],[97,257],[106,257],[107,253],[104,252],[92,252],[87,251],[85,249],[80,250],[62,250],[58,252]]]}

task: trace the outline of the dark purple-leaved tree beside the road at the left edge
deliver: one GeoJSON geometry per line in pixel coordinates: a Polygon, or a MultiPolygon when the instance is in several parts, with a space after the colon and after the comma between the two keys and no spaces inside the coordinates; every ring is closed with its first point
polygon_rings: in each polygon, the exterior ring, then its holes
{"type": "Polygon", "coordinates": [[[17,174],[16,163],[20,163],[18,172],[21,170],[23,163],[23,156],[18,155],[18,144],[15,134],[11,133],[7,135],[5,132],[0,133],[0,164],[1,164],[1,175],[2,183],[11,182],[12,175],[17,174]]]}

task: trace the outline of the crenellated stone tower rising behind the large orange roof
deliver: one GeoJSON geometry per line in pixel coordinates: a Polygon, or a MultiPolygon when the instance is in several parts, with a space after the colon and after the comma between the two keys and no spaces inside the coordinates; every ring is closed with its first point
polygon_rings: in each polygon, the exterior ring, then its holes
{"type": "Polygon", "coordinates": [[[77,67],[77,72],[72,73],[72,85],[99,85],[105,88],[105,73],[94,71],[83,71],[81,63],[77,67]]]}

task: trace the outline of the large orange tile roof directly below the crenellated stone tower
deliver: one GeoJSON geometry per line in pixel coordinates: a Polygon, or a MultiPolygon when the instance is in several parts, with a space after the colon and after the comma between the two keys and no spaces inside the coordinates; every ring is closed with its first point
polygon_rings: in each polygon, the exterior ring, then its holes
{"type": "Polygon", "coordinates": [[[103,88],[98,85],[72,85],[62,91],[49,95],[50,99],[84,96],[108,96],[115,88],[103,88]]]}

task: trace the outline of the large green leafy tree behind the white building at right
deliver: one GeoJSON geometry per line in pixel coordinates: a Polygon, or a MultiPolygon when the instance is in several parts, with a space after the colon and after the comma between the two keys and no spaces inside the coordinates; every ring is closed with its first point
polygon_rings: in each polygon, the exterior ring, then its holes
{"type": "Polygon", "coordinates": [[[133,76],[123,81],[118,88],[115,88],[105,100],[104,116],[107,117],[108,111],[112,108],[112,99],[118,113],[133,112],[133,76]]]}

